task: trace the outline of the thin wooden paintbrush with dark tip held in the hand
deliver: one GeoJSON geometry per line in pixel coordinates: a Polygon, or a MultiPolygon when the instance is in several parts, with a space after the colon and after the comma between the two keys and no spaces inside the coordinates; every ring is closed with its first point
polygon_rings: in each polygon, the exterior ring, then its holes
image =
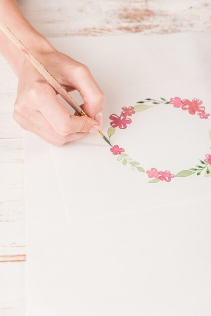
{"type": "MultiPolygon", "coordinates": [[[[16,45],[16,47],[22,52],[22,54],[29,60],[29,62],[38,70],[38,72],[47,80],[47,82],[65,99],[66,102],[80,115],[88,115],[79,107],[78,103],[70,96],[70,94],[65,90],[65,88],[55,79],[49,71],[32,55],[30,50],[16,37],[15,34],[0,21],[0,29],[5,33],[5,35],[16,45]]],[[[97,131],[97,133],[110,145],[109,139],[105,137],[102,131],[97,131]]],[[[113,146],[112,146],[113,147],[113,146]]]]}

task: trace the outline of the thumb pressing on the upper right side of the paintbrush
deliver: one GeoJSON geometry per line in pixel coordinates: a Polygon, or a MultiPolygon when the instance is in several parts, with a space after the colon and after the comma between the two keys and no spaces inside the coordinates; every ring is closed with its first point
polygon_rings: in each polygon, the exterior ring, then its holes
{"type": "Polygon", "coordinates": [[[70,78],[70,85],[80,92],[84,101],[84,110],[87,115],[95,119],[101,127],[105,97],[89,69],[85,65],[77,63],[67,77],[70,78]]]}

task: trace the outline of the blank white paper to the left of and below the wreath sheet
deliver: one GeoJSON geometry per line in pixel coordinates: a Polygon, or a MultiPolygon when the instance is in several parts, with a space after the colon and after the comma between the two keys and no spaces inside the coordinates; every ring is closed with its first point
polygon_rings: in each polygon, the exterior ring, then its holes
{"type": "Polygon", "coordinates": [[[211,313],[209,203],[68,223],[49,145],[29,132],[25,168],[27,316],[211,313]]]}

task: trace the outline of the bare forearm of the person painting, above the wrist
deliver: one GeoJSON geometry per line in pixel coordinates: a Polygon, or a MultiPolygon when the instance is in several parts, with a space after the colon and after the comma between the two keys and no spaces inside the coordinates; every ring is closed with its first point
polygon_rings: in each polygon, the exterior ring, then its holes
{"type": "MultiPolygon", "coordinates": [[[[32,53],[53,50],[50,43],[24,18],[15,0],[0,0],[0,20],[26,45],[32,53]]],[[[25,57],[0,31],[0,51],[18,76],[25,57]]]]}

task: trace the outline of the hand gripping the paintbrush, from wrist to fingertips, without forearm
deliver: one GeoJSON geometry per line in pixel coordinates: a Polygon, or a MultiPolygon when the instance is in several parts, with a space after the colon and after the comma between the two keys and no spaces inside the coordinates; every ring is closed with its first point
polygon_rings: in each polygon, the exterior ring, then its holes
{"type": "Polygon", "coordinates": [[[54,88],[24,59],[19,69],[14,106],[16,122],[56,146],[99,130],[104,95],[89,69],[55,49],[34,55],[67,91],[77,89],[80,92],[84,101],[81,108],[89,118],[70,116],[54,88]]]}

